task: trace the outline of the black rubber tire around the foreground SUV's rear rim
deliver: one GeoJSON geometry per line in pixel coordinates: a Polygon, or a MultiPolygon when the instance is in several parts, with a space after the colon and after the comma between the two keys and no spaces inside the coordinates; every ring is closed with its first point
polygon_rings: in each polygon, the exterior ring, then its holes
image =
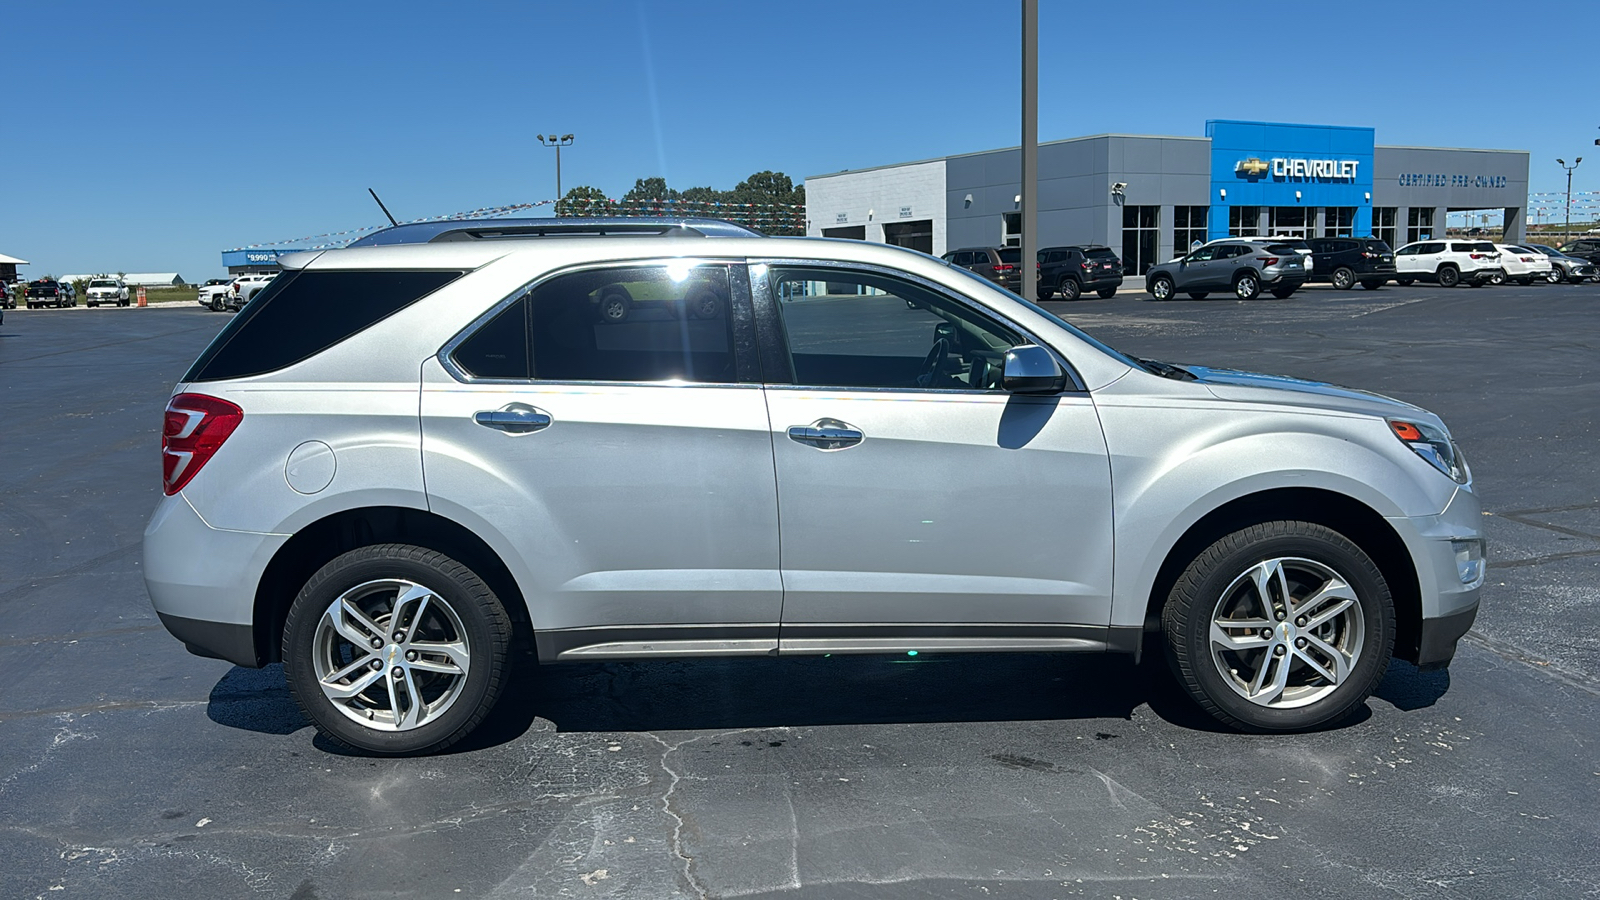
{"type": "MultiPolygon", "coordinates": [[[[382,631],[390,626],[387,620],[378,625],[382,631]]],[[[494,591],[470,569],[421,546],[373,544],[334,557],[301,588],[283,625],[283,673],[301,711],[328,738],[384,756],[438,753],[467,737],[494,706],[510,669],[510,617],[494,591]],[[467,673],[461,676],[464,682],[459,693],[437,713],[437,719],[406,730],[379,730],[358,724],[323,693],[315,671],[320,652],[317,633],[325,612],[347,591],[382,580],[403,580],[427,588],[434,601],[443,601],[445,609],[456,615],[461,626],[458,639],[467,647],[467,673]]],[[[387,684],[384,666],[397,661],[397,657],[386,647],[373,660],[378,661],[374,671],[382,673],[379,682],[387,684]]],[[[427,684],[424,679],[429,676],[414,677],[416,684],[427,684]]]]}

